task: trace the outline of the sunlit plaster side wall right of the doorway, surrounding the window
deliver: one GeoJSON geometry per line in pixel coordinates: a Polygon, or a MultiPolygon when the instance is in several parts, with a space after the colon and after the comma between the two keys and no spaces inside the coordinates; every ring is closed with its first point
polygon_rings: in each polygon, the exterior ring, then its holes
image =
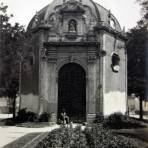
{"type": "Polygon", "coordinates": [[[103,92],[104,92],[104,115],[114,112],[126,112],[126,55],[125,49],[118,48],[118,44],[124,44],[119,39],[109,34],[103,35],[103,49],[106,56],[103,58],[103,92]],[[120,57],[120,69],[112,70],[112,53],[116,52],[120,57]]]}

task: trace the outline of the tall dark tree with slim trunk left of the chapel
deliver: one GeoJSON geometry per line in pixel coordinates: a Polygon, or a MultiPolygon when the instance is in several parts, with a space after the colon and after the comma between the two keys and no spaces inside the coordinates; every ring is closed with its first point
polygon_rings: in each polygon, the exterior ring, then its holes
{"type": "Polygon", "coordinates": [[[23,54],[26,33],[23,26],[15,23],[12,26],[7,15],[7,8],[0,5],[0,70],[1,96],[8,96],[13,100],[13,117],[15,117],[15,98],[19,86],[19,61],[23,54]]]}

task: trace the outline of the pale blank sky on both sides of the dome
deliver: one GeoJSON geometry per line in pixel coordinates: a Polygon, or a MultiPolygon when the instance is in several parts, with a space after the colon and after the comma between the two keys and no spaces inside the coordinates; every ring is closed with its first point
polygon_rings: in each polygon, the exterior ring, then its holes
{"type": "MultiPolygon", "coordinates": [[[[126,31],[136,26],[141,18],[140,6],[136,0],[94,0],[98,4],[110,9],[118,19],[121,27],[126,31]]],[[[52,0],[0,0],[0,3],[8,5],[8,14],[13,14],[11,23],[18,22],[25,28],[37,11],[50,4],[52,0]]]]}

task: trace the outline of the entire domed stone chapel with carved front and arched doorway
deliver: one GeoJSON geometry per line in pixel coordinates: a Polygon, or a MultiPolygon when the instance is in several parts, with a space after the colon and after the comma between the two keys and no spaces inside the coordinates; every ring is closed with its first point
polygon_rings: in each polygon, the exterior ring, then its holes
{"type": "Polygon", "coordinates": [[[22,72],[21,108],[62,108],[72,120],[126,112],[124,32],[110,11],[92,0],[54,0],[28,26],[30,66],[22,72]]]}

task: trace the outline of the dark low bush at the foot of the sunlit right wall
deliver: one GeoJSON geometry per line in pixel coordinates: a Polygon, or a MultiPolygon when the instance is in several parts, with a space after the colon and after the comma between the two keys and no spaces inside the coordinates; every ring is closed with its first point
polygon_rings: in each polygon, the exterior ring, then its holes
{"type": "Polygon", "coordinates": [[[111,129],[129,129],[129,128],[145,128],[140,121],[130,118],[128,116],[122,115],[121,113],[114,113],[109,115],[103,123],[104,127],[111,129]]]}

